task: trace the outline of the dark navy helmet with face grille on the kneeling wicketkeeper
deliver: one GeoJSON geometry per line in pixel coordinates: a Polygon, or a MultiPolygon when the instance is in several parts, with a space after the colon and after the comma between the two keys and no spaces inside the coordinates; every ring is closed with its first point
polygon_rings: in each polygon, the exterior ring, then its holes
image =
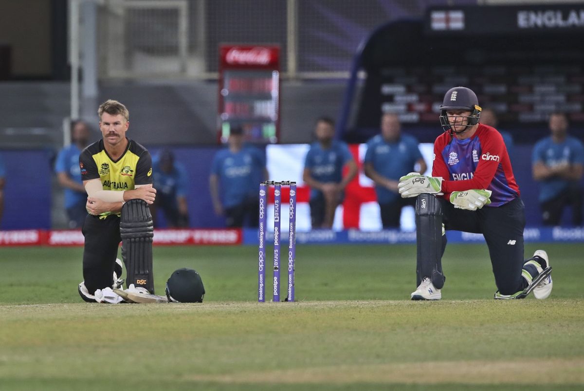
{"type": "MultiPolygon", "coordinates": [[[[446,91],[444,100],[440,105],[440,125],[444,132],[453,133],[453,129],[448,121],[447,112],[454,110],[470,111],[471,114],[467,118],[467,125],[463,125],[464,131],[478,124],[478,119],[481,117],[481,107],[478,105],[477,94],[467,87],[454,87],[446,91]]],[[[462,133],[464,131],[456,132],[462,133]]]]}

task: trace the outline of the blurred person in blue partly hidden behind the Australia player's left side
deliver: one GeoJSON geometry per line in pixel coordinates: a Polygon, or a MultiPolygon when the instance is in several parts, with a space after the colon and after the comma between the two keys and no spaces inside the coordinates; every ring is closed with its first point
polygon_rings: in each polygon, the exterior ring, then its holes
{"type": "Polygon", "coordinates": [[[59,184],[64,187],[69,228],[81,228],[87,216],[87,193],[81,180],[79,154],[89,145],[89,126],[82,121],[71,126],[71,145],[60,150],[55,162],[59,184]]]}

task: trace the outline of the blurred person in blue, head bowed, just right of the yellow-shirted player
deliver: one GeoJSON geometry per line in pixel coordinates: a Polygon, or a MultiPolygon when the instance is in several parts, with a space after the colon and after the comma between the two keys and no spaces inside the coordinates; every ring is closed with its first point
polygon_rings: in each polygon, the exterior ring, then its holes
{"type": "Polygon", "coordinates": [[[159,226],[156,214],[160,209],[164,213],[167,227],[188,227],[187,173],[185,167],[175,160],[175,154],[171,150],[162,149],[152,159],[152,181],[158,191],[152,208],[154,226],[159,226]]]}

